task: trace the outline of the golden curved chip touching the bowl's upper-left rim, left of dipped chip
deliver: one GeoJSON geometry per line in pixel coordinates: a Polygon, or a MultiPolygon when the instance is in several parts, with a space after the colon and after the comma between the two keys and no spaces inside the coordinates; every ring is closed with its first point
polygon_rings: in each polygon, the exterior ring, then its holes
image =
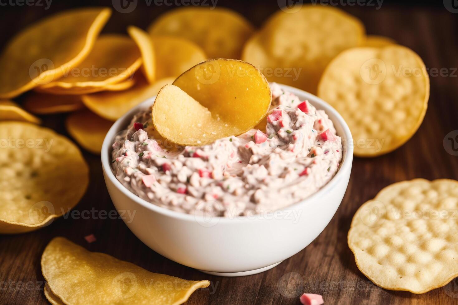
{"type": "Polygon", "coordinates": [[[82,101],[87,108],[107,120],[116,121],[123,114],[131,110],[148,98],[156,96],[167,84],[173,83],[174,77],[163,78],[154,84],[138,77],[133,88],[122,92],[99,92],[82,96],[82,101]]]}

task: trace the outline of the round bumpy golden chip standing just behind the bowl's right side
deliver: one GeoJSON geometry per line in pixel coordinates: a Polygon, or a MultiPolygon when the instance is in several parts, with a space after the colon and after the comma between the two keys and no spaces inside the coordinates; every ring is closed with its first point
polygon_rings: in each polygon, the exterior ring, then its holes
{"type": "Polygon", "coordinates": [[[329,64],[318,96],[348,123],[354,154],[386,154],[407,142],[425,117],[429,76],[409,48],[353,48],[329,64]]]}

